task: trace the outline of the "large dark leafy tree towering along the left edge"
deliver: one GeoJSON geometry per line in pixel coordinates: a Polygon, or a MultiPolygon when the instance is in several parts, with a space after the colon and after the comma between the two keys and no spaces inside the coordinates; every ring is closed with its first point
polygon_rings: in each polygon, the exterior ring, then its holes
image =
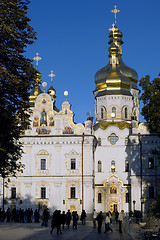
{"type": "Polygon", "coordinates": [[[28,97],[36,70],[25,58],[36,33],[27,17],[28,0],[0,1],[0,175],[21,170],[20,135],[29,124],[28,97]]]}

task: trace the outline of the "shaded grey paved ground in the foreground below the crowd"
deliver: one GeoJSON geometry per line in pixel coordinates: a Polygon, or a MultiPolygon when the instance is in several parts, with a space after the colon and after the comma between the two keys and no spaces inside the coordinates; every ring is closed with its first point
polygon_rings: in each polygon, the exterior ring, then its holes
{"type": "MultiPolygon", "coordinates": [[[[92,222],[87,222],[86,225],[78,225],[78,229],[65,229],[62,234],[58,235],[54,229],[52,235],[49,227],[41,227],[40,223],[0,223],[0,240],[134,240],[128,234],[118,232],[118,224],[112,224],[112,232],[98,233],[96,228],[93,228],[92,222]]],[[[136,238],[137,240],[137,238],[136,238]]]]}

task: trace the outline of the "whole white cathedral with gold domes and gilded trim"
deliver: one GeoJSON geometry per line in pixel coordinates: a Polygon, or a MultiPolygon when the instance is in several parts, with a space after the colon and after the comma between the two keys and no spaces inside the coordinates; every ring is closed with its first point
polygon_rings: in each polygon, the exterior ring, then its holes
{"type": "MultiPolygon", "coordinates": [[[[42,83],[43,92],[37,75],[29,97],[31,126],[21,136],[25,167],[7,188],[0,185],[5,209],[145,214],[160,193],[160,139],[139,122],[138,74],[122,60],[116,6],[113,12],[109,60],[94,77],[94,120],[88,116],[84,123],[74,123],[67,91],[61,109],[56,107],[53,72],[48,90],[42,83]]],[[[35,60],[40,60],[38,54],[35,60]]]]}

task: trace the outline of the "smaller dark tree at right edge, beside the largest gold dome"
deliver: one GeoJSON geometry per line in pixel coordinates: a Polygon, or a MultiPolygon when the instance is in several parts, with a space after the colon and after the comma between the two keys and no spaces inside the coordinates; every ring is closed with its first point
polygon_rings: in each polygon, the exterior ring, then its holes
{"type": "Polygon", "coordinates": [[[160,135],[160,78],[151,81],[147,75],[140,80],[139,86],[142,87],[140,100],[144,104],[142,115],[148,123],[150,132],[160,135]]]}

